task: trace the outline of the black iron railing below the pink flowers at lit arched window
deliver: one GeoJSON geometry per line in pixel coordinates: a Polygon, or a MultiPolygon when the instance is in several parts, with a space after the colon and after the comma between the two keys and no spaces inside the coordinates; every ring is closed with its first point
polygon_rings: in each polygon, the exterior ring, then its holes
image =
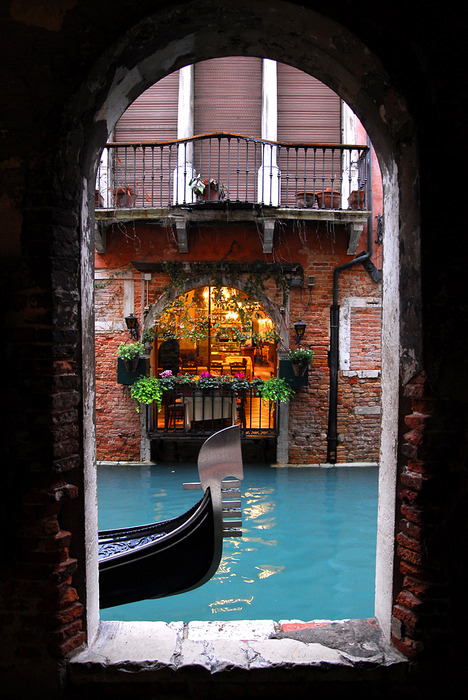
{"type": "Polygon", "coordinates": [[[195,437],[239,424],[244,437],[277,435],[279,404],[262,399],[254,385],[242,392],[229,387],[187,385],[164,391],[161,409],[146,407],[149,436],[195,437]]]}

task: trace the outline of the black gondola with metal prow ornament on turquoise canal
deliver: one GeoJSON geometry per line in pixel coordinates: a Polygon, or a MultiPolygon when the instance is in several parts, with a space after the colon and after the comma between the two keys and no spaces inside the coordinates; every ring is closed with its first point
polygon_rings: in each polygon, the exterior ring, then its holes
{"type": "Polygon", "coordinates": [[[198,474],[199,482],[183,487],[203,489],[203,497],[183,515],[99,532],[101,608],[184,593],[216,573],[223,537],[242,535],[238,425],[214,433],[203,443],[198,474]]]}

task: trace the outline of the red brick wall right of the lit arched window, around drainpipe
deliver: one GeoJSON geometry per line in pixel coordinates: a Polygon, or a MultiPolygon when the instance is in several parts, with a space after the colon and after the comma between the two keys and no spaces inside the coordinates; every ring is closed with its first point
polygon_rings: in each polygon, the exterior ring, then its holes
{"type": "MultiPolygon", "coordinates": [[[[307,322],[304,345],[314,350],[309,370],[309,386],[298,390],[290,402],[289,456],[291,463],[317,464],[326,461],[328,431],[330,346],[330,305],[333,270],[342,262],[342,239],[338,231],[329,251],[319,246],[319,239],[310,232],[301,250],[304,275],[315,276],[309,291],[292,290],[291,322],[302,318],[307,322]],[[309,242],[309,245],[307,245],[309,242]],[[304,255],[307,253],[307,256],[304,255]]],[[[323,235],[323,233],[322,233],[323,235]]],[[[377,248],[376,264],[381,256],[377,248]]],[[[380,285],[374,283],[361,266],[350,268],[340,276],[339,303],[349,297],[375,299],[379,304],[380,285]]],[[[380,448],[380,369],[381,369],[380,306],[352,309],[350,330],[351,364],[338,372],[338,449],[339,462],[377,462],[380,448]],[[358,312],[358,313],[356,313],[358,312]],[[368,376],[366,376],[366,374],[368,376]]],[[[295,347],[293,334],[291,347],[295,347]]]]}

